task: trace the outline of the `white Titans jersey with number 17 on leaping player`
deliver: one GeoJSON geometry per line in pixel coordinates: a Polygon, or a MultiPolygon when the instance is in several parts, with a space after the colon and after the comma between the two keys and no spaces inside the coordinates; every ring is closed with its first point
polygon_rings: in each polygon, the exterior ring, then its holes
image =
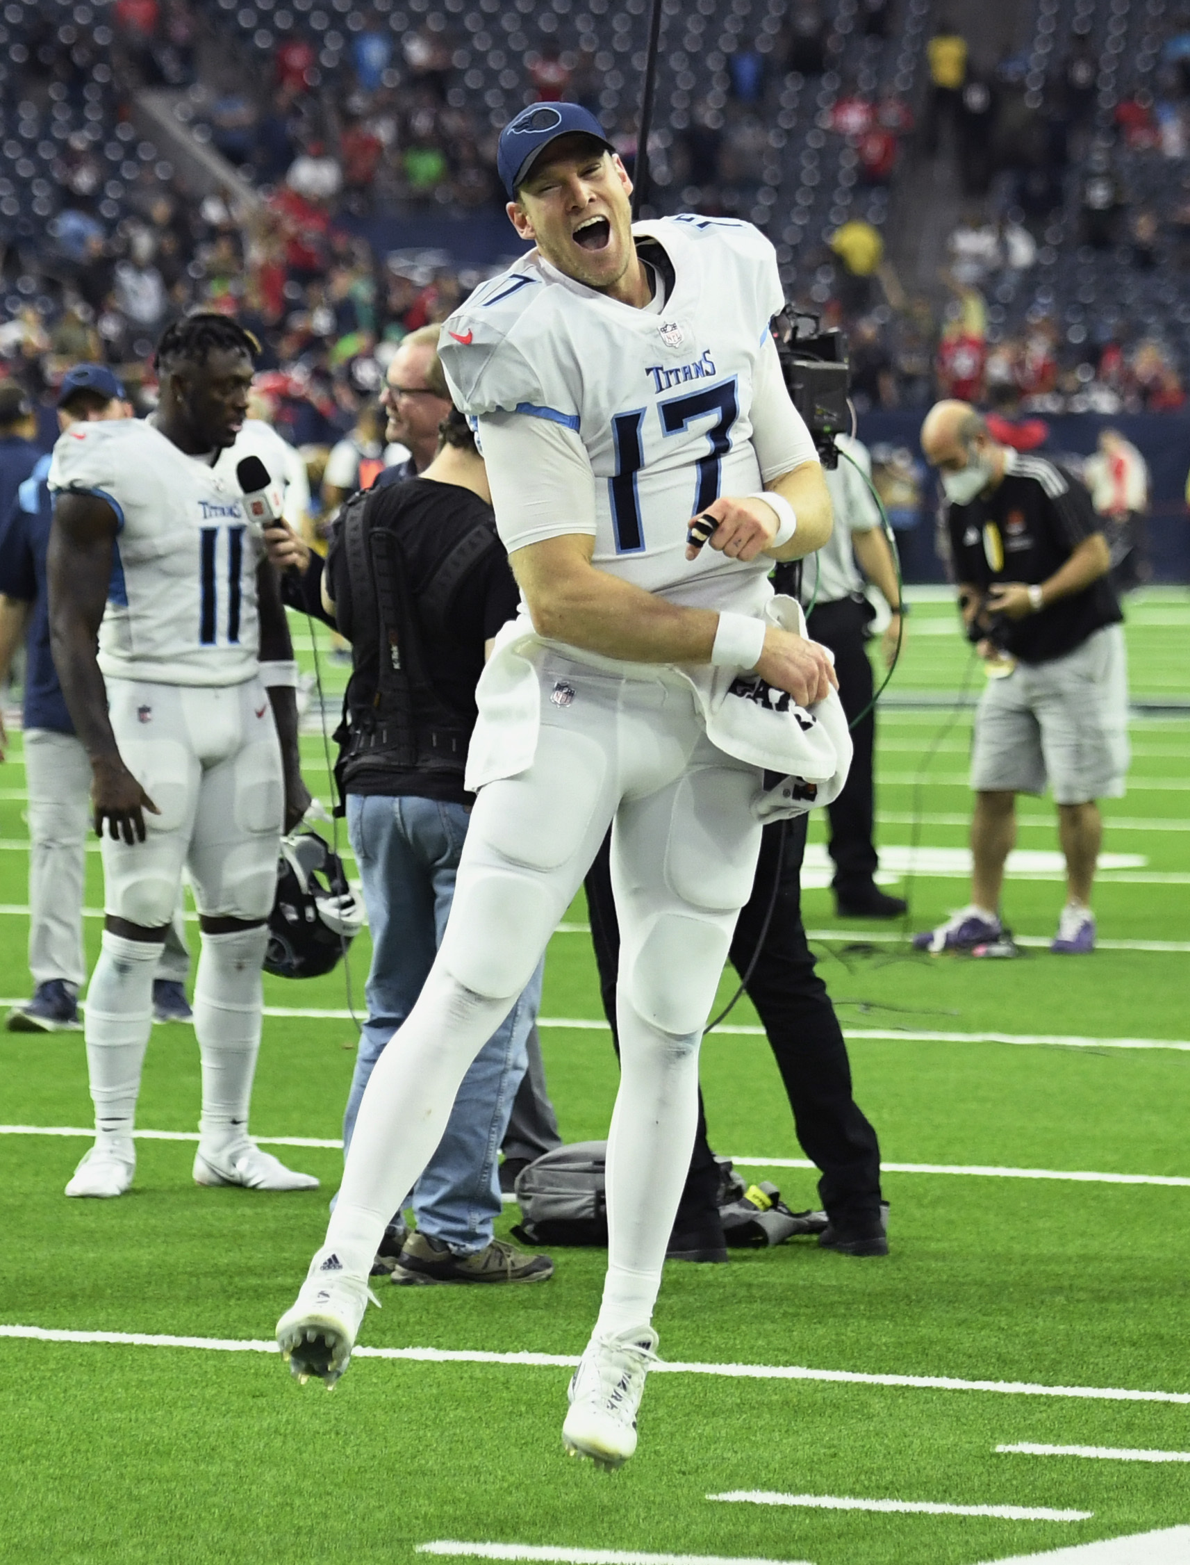
{"type": "MultiPolygon", "coordinates": [[[[711,501],[758,493],[762,470],[772,477],[816,460],[776,369],[769,319],[785,302],[776,254],[751,224],[729,219],[661,218],[633,233],[657,239],[672,264],[660,311],[608,299],[530,252],[446,321],[443,366],[480,430],[485,415],[522,413],[577,434],[596,479],[600,570],[676,601],[758,612],[769,559],[744,565],[705,548],[691,563],[685,548],[690,518],[711,501]],[[763,369],[785,404],[785,432],[794,429],[776,463],[752,438],[763,369]]],[[[518,482],[532,485],[532,474],[518,482]]],[[[510,549],[532,541],[500,532],[510,549]]]]}

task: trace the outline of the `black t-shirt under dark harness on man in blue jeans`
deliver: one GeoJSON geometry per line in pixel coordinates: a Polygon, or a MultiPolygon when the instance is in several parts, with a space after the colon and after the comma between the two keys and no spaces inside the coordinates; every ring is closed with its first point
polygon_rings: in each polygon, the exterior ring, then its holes
{"type": "MultiPolygon", "coordinates": [[[[410,592],[416,603],[421,585],[428,579],[452,538],[461,541],[480,523],[494,527],[491,505],[458,484],[436,479],[407,479],[385,496],[385,524],[399,538],[410,568],[410,592]]],[[[338,626],[352,639],[352,590],[341,534],[327,554],[327,582],[335,599],[338,626]]],[[[450,598],[449,626],[422,628],[422,651],[438,696],[469,718],[477,715],[475,685],[483,673],[483,643],[496,635],[505,620],[516,617],[519,593],[502,548],[483,554],[463,576],[450,598]]],[[[352,706],[367,703],[375,695],[378,648],[352,646],[353,671],[349,690],[352,706]]],[[[377,778],[358,778],[346,784],[349,793],[416,795],[455,804],[469,804],[474,795],[463,789],[457,773],[414,772],[394,767],[377,778]]]]}

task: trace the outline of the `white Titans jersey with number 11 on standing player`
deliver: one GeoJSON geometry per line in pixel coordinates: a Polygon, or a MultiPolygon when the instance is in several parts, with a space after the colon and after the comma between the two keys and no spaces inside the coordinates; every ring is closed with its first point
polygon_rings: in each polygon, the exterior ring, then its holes
{"type": "Polygon", "coordinates": [[[75,424],[53,448],[50,490],[99,495],[119,520],[99,632],[106,678],[233,685],[256,675],[264,545],[236,460],[228,476],[131,418],[75,424]]]}

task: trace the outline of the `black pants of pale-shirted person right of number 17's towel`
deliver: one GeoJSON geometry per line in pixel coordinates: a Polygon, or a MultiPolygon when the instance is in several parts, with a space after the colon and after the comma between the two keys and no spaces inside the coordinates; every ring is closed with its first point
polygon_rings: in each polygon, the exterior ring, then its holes
{"type": "MultiPolygon", "coordinates": [[[[815,642],[829,646],[835,654],[838,675],[838,698],[848,721],[868,706],[876,689],[873,665],[868,660],[866,629],[871,612],[866,603],[840,598],[838,603],[821,603],[807,620],[807,631],[815,642]]],[[[835,861],[835,890],[846,900],[862,895],[876,875],[876,793],[873,787],[873,745],[876,742],[876,712],[871,711],[851,731],[855,754],[843,792],[827,806],[830,815],[830,858],[835,861]]]]}

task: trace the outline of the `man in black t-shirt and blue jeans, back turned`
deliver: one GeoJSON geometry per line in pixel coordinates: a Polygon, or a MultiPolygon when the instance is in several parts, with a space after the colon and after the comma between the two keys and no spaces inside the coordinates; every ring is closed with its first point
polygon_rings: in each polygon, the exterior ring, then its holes
{"type": "MultiPolygon", "coordinates": [[[[446,383],[436,355],[427,379],[446,383]]],[[[447,399],[447,407],[449,407],[447,399]]],[[[421,994],[446,928],[472,795],[463,787],[475,684],[518,590],[496,535],[483,459],[453,407],[416,477],[352,496],[322,574],[322,607],[352,643],[338,778],[372,933],[367,1022],[344,1114],[421,994]]],[[[397,1283],[538,1282],[554,1266],[493,1236],[496,1157],[527,1066],[541,967],[468,1069],[443,1139],[380,1258],[397,1283]]],[[[400,1044],[397,1042],[399,1049],[400,1044]]]]}

